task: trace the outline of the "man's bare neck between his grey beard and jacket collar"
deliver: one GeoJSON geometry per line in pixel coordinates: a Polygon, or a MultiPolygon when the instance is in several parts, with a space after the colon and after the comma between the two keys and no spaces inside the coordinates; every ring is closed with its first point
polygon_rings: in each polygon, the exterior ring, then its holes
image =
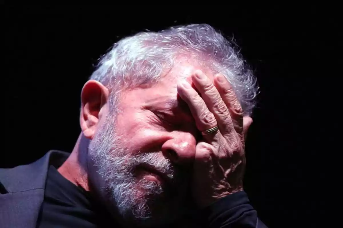
{"type": "Polygon", "coordinates": [[[81,133],[68,159],[58,172],[71,183],[89,191],[87,175],[87,148],[89,141],[81,133]]]}

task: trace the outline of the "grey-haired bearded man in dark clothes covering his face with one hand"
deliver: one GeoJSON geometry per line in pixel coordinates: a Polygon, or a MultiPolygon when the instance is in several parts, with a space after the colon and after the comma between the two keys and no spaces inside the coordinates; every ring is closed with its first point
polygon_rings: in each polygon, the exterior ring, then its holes
{"type": "Polygon", "coordinates": [[[1,227],[264,227],[243,190],[256,79],[209,25],[120,40],[71,154],[0,172],[1,227]]]}

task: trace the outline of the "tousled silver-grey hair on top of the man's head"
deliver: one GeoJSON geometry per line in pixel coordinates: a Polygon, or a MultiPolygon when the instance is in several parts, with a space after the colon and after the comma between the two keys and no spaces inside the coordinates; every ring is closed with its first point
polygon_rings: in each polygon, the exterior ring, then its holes
{"type": "Polygon", "coordinates": [[[90,79],[110,90],[111,111],[117,110],[120,92],[152,85],[177,57],[196,59],[213,73],[222,73],[233,86],[245,115],[256,105],[258,85],[234,43],[207,24],[171,27],[159,32],[139,32],[115,43],[98,63],[90,79]]]}

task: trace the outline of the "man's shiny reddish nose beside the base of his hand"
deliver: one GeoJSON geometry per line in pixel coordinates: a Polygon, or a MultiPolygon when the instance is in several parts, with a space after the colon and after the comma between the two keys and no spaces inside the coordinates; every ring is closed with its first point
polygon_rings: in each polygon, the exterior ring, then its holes
{"type": "Polygon", "coordinates": [[[174,132],[174,136],[162,145],[162,153],[176,164],[187,164],[194,160],[195,137],[187,132],[174,132]]]}

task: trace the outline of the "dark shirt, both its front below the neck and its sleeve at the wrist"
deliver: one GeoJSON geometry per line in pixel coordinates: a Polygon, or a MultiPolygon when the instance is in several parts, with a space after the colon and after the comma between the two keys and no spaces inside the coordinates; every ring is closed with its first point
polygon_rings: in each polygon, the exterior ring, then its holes
{"type": "MultiPolygon", "coordinates": [[[[96,205],[96,200],[87,191],[71,183],[50,165],[37,227],[120,227],[114,220],[109,220],[108,212],[96,205]]],[[[192,226],[186,225],[189,224],[188,218],[176,227],[265,227],[258,221],[257,212],[244,191],[191,214],[192,226]]]]}

